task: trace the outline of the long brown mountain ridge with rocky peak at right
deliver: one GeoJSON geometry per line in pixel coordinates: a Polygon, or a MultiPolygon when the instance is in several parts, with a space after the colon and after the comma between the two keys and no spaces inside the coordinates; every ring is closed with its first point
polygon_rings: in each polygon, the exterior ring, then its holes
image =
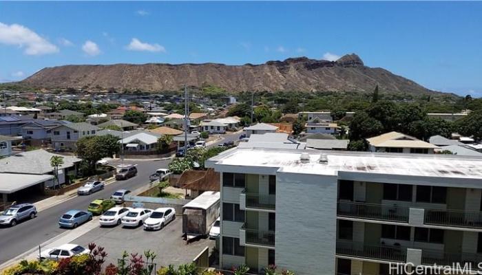
{"type": "Polygon", "coordinates": [[[432,91],[386,69],[367,67],[357,54],[337,61],[306,56],[262,64],[118,63],[45,67],[19,82],[45,89],[83,88],[143,91],[178,90],[184,85],[212,85],[227,91],[381,91],[427,94],[432,91]]]}

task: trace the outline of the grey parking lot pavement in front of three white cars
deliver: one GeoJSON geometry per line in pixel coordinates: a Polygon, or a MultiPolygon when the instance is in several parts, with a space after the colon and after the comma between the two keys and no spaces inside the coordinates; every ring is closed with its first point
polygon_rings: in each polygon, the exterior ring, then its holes
{"type": "MultiPolygon", "coordinates": [[[[98,220],[92,221],[98,223],[98,220]]],[[[199,239],[186,245],[182,238],[182,217],[167,224],[158,231],[145,231],[143,227],[123,228],[121,225],[114,228],[95,228],[71,243],[87,247],[89,243],[96,243],[105,248],[107,252],[106,263],[117,263],[124,251],[128,253],[143,254],[145,250],[156,253],[157,267],[165,265],[180,265],[191,261],[209,246],[211,253],[215,241],[199,239]]]]}

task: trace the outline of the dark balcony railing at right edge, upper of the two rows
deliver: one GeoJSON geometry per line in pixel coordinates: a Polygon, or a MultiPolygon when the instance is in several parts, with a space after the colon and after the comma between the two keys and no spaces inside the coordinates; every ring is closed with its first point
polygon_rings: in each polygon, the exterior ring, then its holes
{"type": "Polygon", "coordinates": [[[425,210],[425,224],[482,228],[482,212],[469,210],[425,210]]]}

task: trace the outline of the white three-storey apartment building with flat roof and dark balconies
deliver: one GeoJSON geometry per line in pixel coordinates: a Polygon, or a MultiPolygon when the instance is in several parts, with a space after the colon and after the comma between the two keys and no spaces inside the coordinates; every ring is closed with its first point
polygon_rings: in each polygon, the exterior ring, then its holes
{"type": "Polygon", "coordinates": [[[206,166],[220,173],[224,268],[378,275],[482,262],[480,158],[233,148],[206,166]]]}

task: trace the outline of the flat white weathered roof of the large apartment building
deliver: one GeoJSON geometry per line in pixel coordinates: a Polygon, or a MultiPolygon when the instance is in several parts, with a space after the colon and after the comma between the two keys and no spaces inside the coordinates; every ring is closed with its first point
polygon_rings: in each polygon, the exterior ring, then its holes
{"type": "Polygon", "coordinates": [[[233,148],[208,159],[206,166],[278,168],[283,172],[338,175],[339,172],[401,176],[482,179],[482,159],[459,155],[370,153],[353,151],[294,151],[269,148],[233,148]],[[301,153],[309,162],[301,162],[301,153]],[[327,164],[318,162],[326,154],[327,164]]]}

